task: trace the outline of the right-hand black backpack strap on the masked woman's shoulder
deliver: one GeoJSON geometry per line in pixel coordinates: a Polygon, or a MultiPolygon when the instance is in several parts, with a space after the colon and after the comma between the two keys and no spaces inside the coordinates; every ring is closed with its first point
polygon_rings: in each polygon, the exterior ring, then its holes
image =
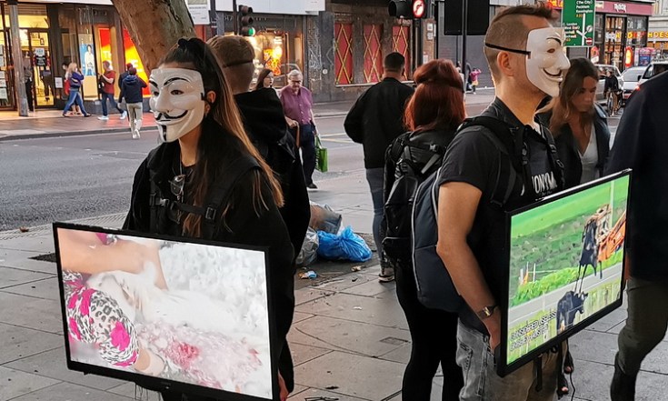
{"type": "Polygon", "coordinates": [[[211,239],[214,237],[216,225],[220,220],[219,213],[231,195],[234,185],[250,170],[260,168],[257,160],[250,155],[243,155],[237,158],[230,166],[232,168],[226,171],[221,179],[216,180],[209,188],[210,195],[206,201],[206,206],[202,208],[204,238],[211,239]]]}

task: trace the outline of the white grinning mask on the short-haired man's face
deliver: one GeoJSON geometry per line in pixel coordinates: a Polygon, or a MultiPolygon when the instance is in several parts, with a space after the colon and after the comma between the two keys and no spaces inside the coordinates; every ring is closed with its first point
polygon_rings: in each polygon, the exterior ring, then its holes
{"type": "Polygon", "coordinates": [[[526,39],[526,77],[545,94],[559,95],[563,72],[571,63],[563,53],[565,35],[562,28],[540,28],[529,32],[526,39]]]}

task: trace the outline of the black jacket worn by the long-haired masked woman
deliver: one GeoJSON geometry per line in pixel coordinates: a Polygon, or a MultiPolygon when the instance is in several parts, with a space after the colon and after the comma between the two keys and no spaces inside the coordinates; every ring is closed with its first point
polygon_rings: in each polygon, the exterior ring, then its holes
{"type": "MultiPolygon", "coordinates": [[[[207,129],[207,128],[204,128],[207,129]]],[[[222,128],[221,128],[222,129],[222,128]]],[[[224,135],[220,133],[220,135],[224,135]]],[[[228,149],[224,155],[234,159],[243,156],[238,151],[240,145],[235,143],[232,135],[224,135],[228,149]]],[[[173,199],[168,181],[174,176],[173,165],[179,155],[177,142],[166,143],[155,148],[139,166],[133,184],[130,211],[125,219],[124,228],[144,233],[155,233],[174,236],[181,228],[171,220],[166,225],[155,228],[150,222],[149,198],[151,181],[154,181],[162,197],[173,199]]],[[[229,167],[229,165],[228,165],[229,167]]],[[[267,246],[268,267],[271,271],[269,280],[271,302],[275,316],[275,344],[280,352],[286,344],[287,332],[292,325],[294,313],[294,274],[292,268],[293,249],[278,208],[271,202],[268,185],[263,188],[264,200],[268,209],[262,209],[258,216],[254,209],[254,193],[250,184],[249,172],[232,189],[234,202],[224,220],[211,240],[228,244],[245,246],[267,246]]],[[[292,373],[290,372],[290,375],[292,373]]],[[[142,385],[142,383],[139,383],[142,385]]],[[[192,398],[197,399],[197,398],[192,398]]]]}

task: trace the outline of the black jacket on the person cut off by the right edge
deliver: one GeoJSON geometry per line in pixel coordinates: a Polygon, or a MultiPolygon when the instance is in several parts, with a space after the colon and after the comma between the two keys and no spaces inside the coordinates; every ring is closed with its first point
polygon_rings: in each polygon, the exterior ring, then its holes
{"type": "Polygon", "coordinates": [[[668,73],[645,82],[629,99],[605,171],[633,168],[627,220],[631,275],[668,279],[668,73]]]}

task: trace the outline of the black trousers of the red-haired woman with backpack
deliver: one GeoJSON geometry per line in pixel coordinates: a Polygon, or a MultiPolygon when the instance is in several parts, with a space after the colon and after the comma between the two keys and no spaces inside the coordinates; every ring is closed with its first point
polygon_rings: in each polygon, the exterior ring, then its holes
{"type": "Polygon", "coordinates": [[[459,400],[464,386],[462,368],[457,366],[457,315],[429,309],[417,299],[411,269],[394,268],[396,295],[404,309],[413,349],[404,372],[404,400],[429,401],[432,381],[439,364],[443,370],[443,401],[459,400]],[[440,327],[440,328],[439,328],[440,327]]]}

